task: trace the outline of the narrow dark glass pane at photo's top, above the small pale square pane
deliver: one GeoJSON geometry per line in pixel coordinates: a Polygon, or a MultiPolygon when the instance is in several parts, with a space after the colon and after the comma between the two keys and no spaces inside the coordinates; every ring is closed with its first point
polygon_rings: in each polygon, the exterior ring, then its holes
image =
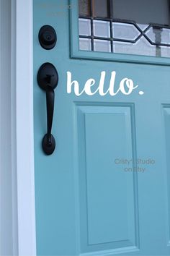
{"type": "Polygon", "coordinates": [[[107,18],[107,0],[91,0],[93,6],[93,17],[107,18]]]}

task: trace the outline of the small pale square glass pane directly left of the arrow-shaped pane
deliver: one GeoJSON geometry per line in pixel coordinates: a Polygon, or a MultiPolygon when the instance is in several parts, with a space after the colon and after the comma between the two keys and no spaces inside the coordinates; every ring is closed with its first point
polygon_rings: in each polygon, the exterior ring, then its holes
{"type": "Polygon", "coordinates": [[[109,22],[94,20],[94,35],[101,36],[104,38],[110,37],[109,22]]]}

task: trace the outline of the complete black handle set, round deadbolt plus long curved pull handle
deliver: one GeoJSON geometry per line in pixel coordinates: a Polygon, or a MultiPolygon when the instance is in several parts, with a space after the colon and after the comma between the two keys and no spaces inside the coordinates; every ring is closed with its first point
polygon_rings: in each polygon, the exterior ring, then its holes
{"type": "MultiPolygon", "coordinates": [[[[39,41],[42,48],[50,50],[55,46],[56,40],[53,27],[48,25],[41,27],[39,41]]],[[[42,64],[37,72],[37,83],[42,90],[45,90],[47,103],[47,133],[42,139],[42,150],[46,155],[51,155],[55,150],[55,138],[51,134],[55,101],[54,89],[58,85],[58,72],[53,64],[49,62],[42,64]]]]}

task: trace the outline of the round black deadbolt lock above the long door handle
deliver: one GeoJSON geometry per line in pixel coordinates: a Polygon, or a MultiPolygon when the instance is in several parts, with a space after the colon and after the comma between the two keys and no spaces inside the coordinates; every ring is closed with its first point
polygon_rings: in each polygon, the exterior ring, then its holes
{"type": "Polygon", "coordinates": [[[38,38],[40,45],[46,50],[53,49],[55,43],[57,42],[57,35],[55,33],[55,30],[50,25],[45,25],[40,28],[38,38]]]}

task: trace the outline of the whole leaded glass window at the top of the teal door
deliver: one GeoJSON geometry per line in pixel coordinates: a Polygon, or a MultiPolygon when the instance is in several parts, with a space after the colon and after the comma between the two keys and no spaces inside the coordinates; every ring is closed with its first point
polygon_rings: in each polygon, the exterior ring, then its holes
{"type": "Polygon", "coordinates": [[[79,0],[79,48],[170,57],[168,0],[79,0]]]}

